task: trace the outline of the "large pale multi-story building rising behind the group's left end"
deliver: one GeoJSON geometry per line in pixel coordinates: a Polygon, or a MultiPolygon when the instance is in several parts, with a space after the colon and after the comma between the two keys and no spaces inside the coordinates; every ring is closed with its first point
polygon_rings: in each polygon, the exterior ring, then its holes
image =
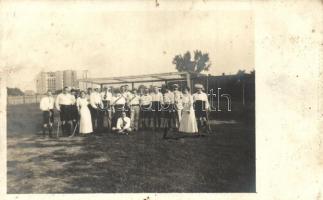
{"type": "Polygon", "coordinates": [[[37,93],[55,92],[64,87],[78,88],[78,79],[84,77],[86,71],[64,70],[56,72],[40,72],[36,78],[37,93]]]}

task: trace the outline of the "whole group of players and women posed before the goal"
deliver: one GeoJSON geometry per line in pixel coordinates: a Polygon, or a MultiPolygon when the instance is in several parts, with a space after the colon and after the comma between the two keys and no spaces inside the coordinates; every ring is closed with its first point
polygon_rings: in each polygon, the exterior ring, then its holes
{"type": "Polygon", "coordinates": [[[203,85],[195,84],[196,93],[190,88],[179,90],[177,84],[163,89],[142,87],[129,90],[123,85],[117,92],[111,87],[88,88],[87,91],[65,87],[56,99],[48,92],[40,101],[43,111],[43,134],[52,136],[54,108],[59,111],[63,135],[82,135],[114,131],[129,134],[141,130],[169,130],[184,133],[200,133],[207,127],[208,96],[203,85]]]}

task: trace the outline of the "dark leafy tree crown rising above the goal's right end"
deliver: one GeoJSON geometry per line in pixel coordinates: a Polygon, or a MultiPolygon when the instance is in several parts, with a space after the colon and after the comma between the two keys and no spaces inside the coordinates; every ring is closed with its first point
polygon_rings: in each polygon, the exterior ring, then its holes
{"type": "Polygon", "coordinates": [[[208,53],[202,53],[200,50],[194,51],[194,60],[191,53],[187,51],[183,55],[175,55],[173,62],[179,72],[197,72],[208,71],[211,63],[208,53]]]}

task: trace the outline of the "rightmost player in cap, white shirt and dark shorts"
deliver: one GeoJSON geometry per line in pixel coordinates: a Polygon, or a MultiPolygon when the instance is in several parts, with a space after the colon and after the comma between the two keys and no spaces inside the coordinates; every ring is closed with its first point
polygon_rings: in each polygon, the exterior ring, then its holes
{"type": "Polygon", "coordinates": [[[208,96],[203,92],[202,84],[195,84],[196,93],[193,94],[195,116],[198,125],[198,131],[200,132],[201,128],[206,128],[207,126],[207,111],[210,108],[208,96]]]}

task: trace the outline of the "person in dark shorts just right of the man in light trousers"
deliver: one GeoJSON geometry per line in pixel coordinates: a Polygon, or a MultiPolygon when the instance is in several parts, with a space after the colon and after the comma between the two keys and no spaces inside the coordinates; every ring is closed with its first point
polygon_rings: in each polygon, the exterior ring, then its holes
{"type": "Polygon", "coordinates": [[[152,101],[152,97],[149,94],[149,89],[145,87],[144,95],[140,97],[140,108],[141,108],[140,121],[144,129],[147,129],[149,127],[151,101],[152,101]]]}

